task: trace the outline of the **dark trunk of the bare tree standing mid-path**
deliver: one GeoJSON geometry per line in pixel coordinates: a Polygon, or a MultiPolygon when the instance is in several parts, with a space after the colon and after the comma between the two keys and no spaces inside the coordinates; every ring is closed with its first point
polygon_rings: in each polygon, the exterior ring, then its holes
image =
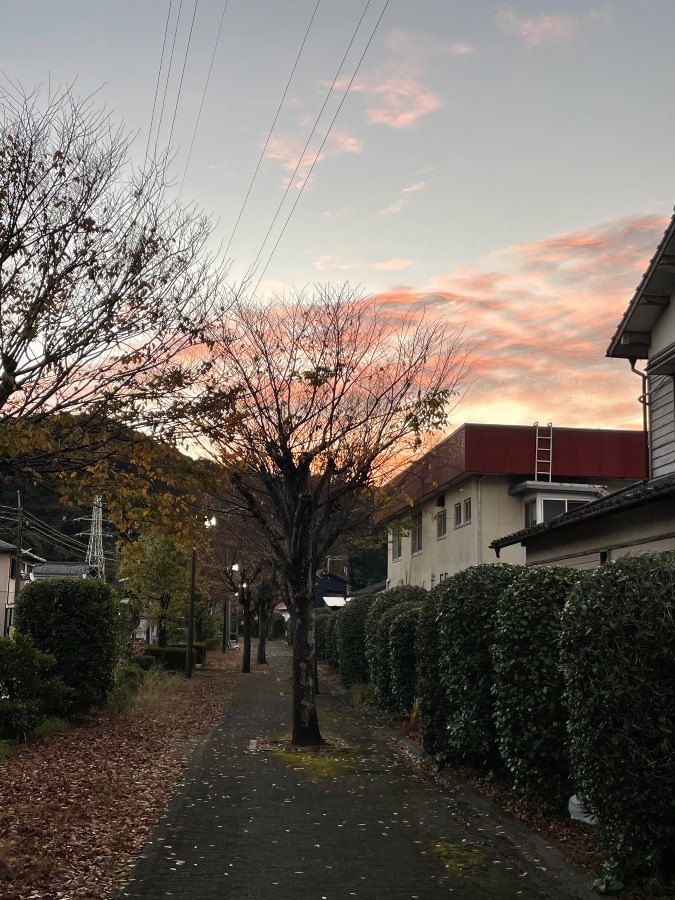
{"type": "Polygon", "coordinates": [[[315,615],[314,600],[296,595],[295,628],[293,635],[293,743],[301,747],[315,747],[324,743],[319,731],[316,712],[316,681],[314,678],[315,615]]]}

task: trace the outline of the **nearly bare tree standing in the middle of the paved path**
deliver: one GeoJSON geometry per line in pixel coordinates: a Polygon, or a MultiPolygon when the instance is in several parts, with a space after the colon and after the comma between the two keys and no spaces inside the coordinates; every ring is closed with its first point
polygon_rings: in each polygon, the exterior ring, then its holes
{"type": "Polygon", "coordinates": [[[265,303],[238,299],[211,335],[218,377],[200,426],[266,535],[290,597],[296,744],[322,741],[318,565],[361,491],[444,424],[468,371],[462,335],[447,336],[420,315],[394,322],[348,287],[325,288],[265,303]]]}

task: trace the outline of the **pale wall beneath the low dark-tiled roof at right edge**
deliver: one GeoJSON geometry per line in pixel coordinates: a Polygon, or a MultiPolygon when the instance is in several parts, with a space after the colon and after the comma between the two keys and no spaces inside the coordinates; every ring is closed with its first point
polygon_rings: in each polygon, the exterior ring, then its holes
{"type": "Polygon", "coordinates": [[[591,519],[529,542],[528,566],[592,569],[627,554],[675,550],[672,499],[591,519]]]}

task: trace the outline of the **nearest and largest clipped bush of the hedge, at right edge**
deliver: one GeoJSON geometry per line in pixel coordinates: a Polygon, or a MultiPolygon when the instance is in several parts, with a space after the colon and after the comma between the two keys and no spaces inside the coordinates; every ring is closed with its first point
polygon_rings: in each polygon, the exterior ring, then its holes
{"type": "Polygon", "coordinates": [[[577,793],[623,873],[675,876],[675,554],[624,557],[579,582],[562,664],[577,793]]]}

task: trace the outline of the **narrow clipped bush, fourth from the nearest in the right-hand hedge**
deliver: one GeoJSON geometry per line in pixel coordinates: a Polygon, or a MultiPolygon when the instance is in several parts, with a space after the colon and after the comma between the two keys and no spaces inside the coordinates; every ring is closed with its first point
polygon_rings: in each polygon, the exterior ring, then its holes
{"type": "Polygon", "coordinates": [[[425,753],[435,757],[439,757],[444,752],[445,731],[449,715],[447,698],[445,693],[439,689],[438,684],[438,660],[441,654],[438,622],[442,604],[439,587],[429,592],[429,599],[420,607],[415,629],[417,722],[422,749],[425,753]]]}

